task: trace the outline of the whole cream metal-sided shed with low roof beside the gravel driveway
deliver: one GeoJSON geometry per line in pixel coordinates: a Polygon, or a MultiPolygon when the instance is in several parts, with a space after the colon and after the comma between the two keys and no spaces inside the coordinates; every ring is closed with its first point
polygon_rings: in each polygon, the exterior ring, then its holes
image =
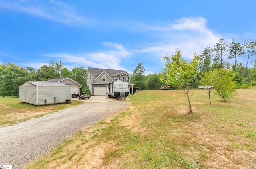
{"type": "Polygon", "coordinates": [[[65,103],[71,100],[71,86],[58,82],[26,81],[20,86],[20,101],[34,104],[65,103]]]}

